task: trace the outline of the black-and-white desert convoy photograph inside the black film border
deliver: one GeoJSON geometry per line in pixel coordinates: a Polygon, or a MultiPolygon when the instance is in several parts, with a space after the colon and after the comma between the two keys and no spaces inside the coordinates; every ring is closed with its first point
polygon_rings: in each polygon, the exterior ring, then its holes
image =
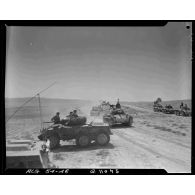
{"type": "Polygon", "coordinates": [[[191,22],[6,26],[6,168],[191,173],[191,96],[191,22]]]}

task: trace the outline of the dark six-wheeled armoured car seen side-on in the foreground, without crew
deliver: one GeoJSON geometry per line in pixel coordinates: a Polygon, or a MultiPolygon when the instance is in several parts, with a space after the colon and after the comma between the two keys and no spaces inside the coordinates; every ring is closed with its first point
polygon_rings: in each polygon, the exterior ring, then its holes
{"type": "Polygon", "coordinates": [[[85,117],[66,118],[59,124],[43,128],[38,138],[46,141],[50,149],[60,145],[60,140],[76,140],[76,145],[86,147],[95,141],[98,145],[106,145],[110,141],[110,127],[107,124],[86,124],[85,117]]]}

